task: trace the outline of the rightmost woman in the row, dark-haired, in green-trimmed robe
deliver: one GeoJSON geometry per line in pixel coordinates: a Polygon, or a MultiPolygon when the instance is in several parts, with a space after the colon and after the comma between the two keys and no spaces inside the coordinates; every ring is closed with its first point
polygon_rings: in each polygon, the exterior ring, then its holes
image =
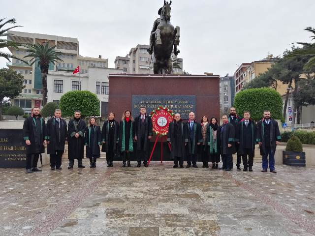
{"type": "Polygon", "coordinates": [[[207,142],[212,169],[218,169],[220,161],[220,130],[221,126],[218,124],[218,119],[215,117],[211,118],[207,129],[207,142]]]}

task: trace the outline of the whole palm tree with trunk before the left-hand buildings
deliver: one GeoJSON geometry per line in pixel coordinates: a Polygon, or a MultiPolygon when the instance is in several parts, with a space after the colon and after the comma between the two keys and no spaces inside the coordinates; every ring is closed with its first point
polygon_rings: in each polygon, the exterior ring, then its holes
{"type": "Polygon", "coordinates": [[[45,106],[47,104],[47,74],[49,64],[53,63],[55,65],[55,62],[63,61],[59,58],[59,56],[62,55],[62,52],[55,50],[56,45],[50,47],[48,42],[46,42],[45,45],[36,43],[25,45],[25,47],[28,48],[26,52],[28,52],[29,55],[24,58],[31,58],[30,65],[38,61],[43,84],[43,106],[45,106]]]}

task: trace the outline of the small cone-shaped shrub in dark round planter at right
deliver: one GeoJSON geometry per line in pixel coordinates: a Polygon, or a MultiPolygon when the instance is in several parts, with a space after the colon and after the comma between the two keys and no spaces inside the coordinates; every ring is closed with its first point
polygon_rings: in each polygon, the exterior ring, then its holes
{"type": "Polygon", "coordinates": [[[288,166],[305,166],[305,152],[298,137],[292,135],[283,151],[283,163],[288,166]]]}

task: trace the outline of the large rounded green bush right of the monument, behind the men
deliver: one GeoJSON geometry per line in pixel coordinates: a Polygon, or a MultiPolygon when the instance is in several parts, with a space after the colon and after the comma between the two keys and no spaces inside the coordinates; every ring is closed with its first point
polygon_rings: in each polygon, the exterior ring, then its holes
{"type": "Polygon", "coordinates": [[[259,120],[263,111],[269,110],[274,119],[283,118],[283,102],[279,92],[270,88],[246,89],[235,95],[234,107],[238,114],[251,112],[251,118],[259,120]]]}

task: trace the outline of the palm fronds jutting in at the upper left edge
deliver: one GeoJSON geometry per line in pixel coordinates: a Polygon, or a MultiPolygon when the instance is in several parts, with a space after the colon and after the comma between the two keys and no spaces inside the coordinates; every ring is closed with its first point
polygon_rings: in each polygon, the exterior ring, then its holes
{"type": "MultiPolygon", "coordinates": [[[[7,47],[13,47],[13,48],[18,50],[19,49],[18,46],[21,46],[22,44],[20,44],[18,42],[11,41],[11,40],[7,40],[7,39],[1,38],[1,37],[13,36],[14,34],[8,33],[7,31],[10,29],[16,28],[16,27],[21,27],[21,26],[12,26],[12,27],[9,27],[7,29],[3,29],[3,27],[6,24],[16,24],[16,21],[14,18],[9,19],[7,21],[4,21],[4,20],[5,20],[5,18],[0,19],[0,49],[1,48],[7,48],[7,47]]],[[[24,61],[23,59],[14,57],[10,53],[0,52],[0,57],[7,59],[9,62],[11,62],[10,58],[12,58],[12,59],[19,59],[25,63],[28,63],[28,62],[24,61]]]]}

